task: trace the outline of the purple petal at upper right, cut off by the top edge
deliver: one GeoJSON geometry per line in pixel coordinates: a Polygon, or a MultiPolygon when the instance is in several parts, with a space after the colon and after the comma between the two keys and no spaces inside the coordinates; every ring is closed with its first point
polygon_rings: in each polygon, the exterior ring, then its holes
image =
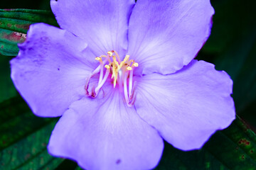
{"type": "Polygon", "coordinates": [[[210,35],[213,13],[210,0],[138,0],[128,34],[136,74],[171,74],[191,62],[210,35]]]}

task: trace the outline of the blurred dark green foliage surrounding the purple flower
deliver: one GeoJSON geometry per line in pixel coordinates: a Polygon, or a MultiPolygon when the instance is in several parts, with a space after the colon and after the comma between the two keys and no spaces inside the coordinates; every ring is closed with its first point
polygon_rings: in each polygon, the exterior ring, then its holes
{"type": "MultiPolygon", "coordinates": [[[[226,130],[216,132],[206,145],[183,152],[165,143],[156,169],[255,169],[256,138],[256,1],[212,0],[215,8],[209,40],[199,52],[233,79],[233,98],[238,115],[226,130]],[[252,130],[250,130],[252,129],[252,130]]],[[[9,60],[17,54],[31,23],[56,26],[50,1],[1,0],[0,8],[0,169],[80,169],[68,159],[51,157],[46,149],[57,119],[33,115],[18,95],[10,78],[9,60]],[[2,46],[3,45],[3,46],[2,46]],[[2,47],[2,48],[1,48],[2,47]]]]}

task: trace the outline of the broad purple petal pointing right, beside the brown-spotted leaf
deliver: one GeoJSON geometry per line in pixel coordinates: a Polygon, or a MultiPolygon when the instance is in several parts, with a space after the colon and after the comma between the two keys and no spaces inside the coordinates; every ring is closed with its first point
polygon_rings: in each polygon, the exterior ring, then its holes
{"type": "Polygon", "coordinates": [[[199,149],[235,119],[233,81],[214,65],[193,60],[179,72],[138,80],[137,113],[164,139],[183,150],[199,149]]]}

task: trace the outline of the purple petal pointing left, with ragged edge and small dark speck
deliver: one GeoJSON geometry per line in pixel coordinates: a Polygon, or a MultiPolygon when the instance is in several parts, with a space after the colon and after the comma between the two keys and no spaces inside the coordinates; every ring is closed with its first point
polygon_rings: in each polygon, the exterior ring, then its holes
{"type": "Polygon", "coordinates": [[[95,67],[87,60],[92,54],[85,42],[66,30],[38,23],[18,46],[20,52],[11,60],[11,79],[33,113],[59,116],[85,96],[87,75],[95,67]]]}

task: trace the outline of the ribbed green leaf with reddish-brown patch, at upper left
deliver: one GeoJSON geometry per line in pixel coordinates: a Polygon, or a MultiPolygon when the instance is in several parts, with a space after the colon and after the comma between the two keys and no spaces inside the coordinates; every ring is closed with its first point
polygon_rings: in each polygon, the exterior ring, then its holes
{"type": "Polygon", "coordinates": [[[17,43],[26,40],[26,33],[32,23],[48,23],[58,26],[50,11],[0,9],[0,55],[17,55],[17,43]]]}

